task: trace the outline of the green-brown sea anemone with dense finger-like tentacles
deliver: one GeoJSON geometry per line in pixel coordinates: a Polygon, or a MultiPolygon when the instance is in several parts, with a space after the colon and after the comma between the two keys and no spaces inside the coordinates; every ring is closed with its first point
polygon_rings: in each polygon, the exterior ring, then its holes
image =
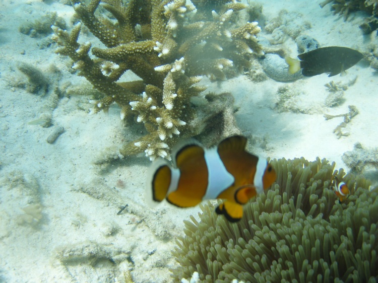
{"type": "Polygon", "coordinates": [[[185,222],[173,251],[175,280],[199,282],[375,282],[378,278],[378,190],[350,174],[343,203],[330,186],[344,172],[327,160],[271,161],[276,183],[231,224],[201,206],[200,221],[185,222]]]}

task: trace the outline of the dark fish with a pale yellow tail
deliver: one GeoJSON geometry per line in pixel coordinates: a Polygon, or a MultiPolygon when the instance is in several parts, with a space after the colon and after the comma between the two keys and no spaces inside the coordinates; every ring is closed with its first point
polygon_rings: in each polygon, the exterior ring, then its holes
{"type": "Polygon", "coordinates": [[[345,73],[346,69],[354,66],[363,55],[357,50],[347,47],[322,47],[298,55],[301,61],[286,57],[289,73],[294,74],[302,68],[302,75],[312,77],[327,73],[328,77],[345,73]]]}

